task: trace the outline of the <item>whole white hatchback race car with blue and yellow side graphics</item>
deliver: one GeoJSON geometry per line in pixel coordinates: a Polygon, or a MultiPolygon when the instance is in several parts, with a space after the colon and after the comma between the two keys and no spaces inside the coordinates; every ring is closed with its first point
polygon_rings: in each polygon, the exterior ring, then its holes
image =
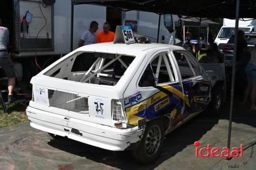
{"type": "Polygon", "coordinates": [[[78,48],[32,78],[30,125],[53,137],[111,151],[132,150],[150,163],[164,135],[211,106],[224,80],[182,47],[99,43],[78,48]]]}

